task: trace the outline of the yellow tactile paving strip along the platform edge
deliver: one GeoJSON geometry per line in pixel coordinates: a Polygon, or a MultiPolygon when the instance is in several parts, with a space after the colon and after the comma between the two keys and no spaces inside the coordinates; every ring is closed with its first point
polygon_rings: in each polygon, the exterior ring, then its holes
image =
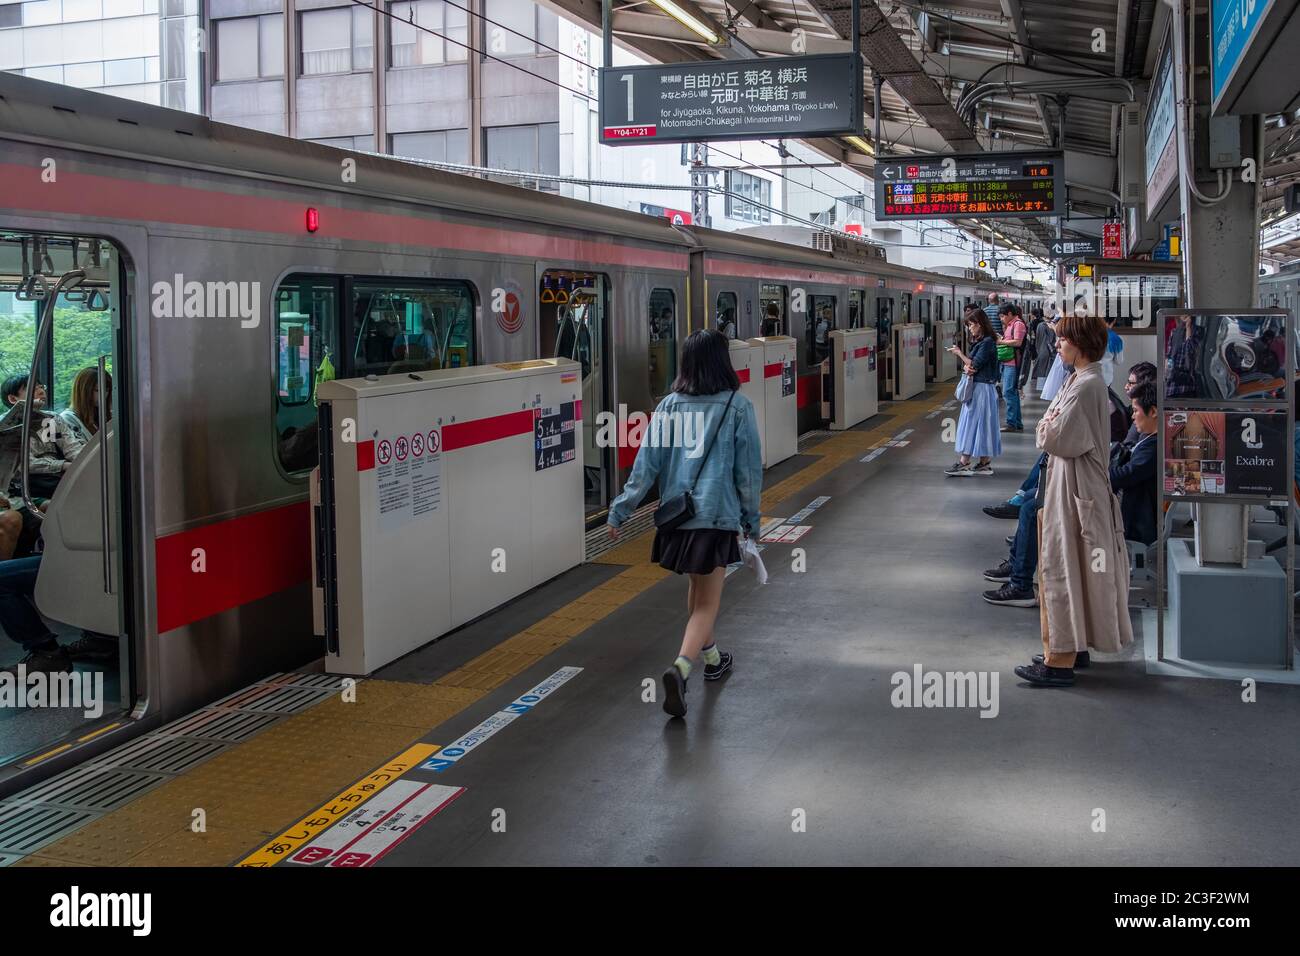
{"type": "MultiPolygon", "coordinates": [[[[932,411],[937,394],[892,403],[890,421],[809,449],[818,460],[768,488],[763,511],[932,411]]],[[[649,563],[651,540],[640,535],[599,555],[597,563],[628,567],[434,683],[360,680],[355,702],[333,695],[13,865],[224,866],[240,858],[668,578],[649,563]],[[196,808],[205,832],[191,827],[196,808]]]]}

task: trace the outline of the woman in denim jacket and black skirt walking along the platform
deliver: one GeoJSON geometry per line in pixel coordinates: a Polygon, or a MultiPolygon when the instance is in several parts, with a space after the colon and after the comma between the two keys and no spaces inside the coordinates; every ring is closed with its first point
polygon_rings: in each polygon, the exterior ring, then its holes
{"type": "Polygon", "coordinates": [[[618,540],[619,527],[658,480],[655,523],[664,527],[655,531],[650,559],[690,579],[686,632],[677,659],[663,674],[663,709],[685,717],[686,682],[696,656],[703,654],[705,680],[718,680],[732,666],[731,653],[719,650],[714,640],[714,623],[727,566],[741,559],[737,533],[757,533],[763,490],[754,407],[740,394],[724,334],[701,329],[686,338],[681,372],[655,408],[646,434],[655,440],[644,441],[637,450],[632,475],[610,505],[607,528],[618,540]],[[685,429],[682,437],[684,429],[673,424],[688,421],[699,425],[685,429]],[[675,437],[680,440],[671,440],[675,437]],[[662,522],[666,511],[688,518],[662,522]]]}

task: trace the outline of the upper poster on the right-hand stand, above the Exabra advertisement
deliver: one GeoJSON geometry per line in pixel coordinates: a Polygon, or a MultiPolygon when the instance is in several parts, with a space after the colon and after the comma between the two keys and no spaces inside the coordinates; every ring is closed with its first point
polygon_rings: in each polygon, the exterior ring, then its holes
{"type": "Polygon", "coordinates": [[[1166,316],[1165,397],[1284,399],[1286,341],[1280,315],[1166,316]]]}

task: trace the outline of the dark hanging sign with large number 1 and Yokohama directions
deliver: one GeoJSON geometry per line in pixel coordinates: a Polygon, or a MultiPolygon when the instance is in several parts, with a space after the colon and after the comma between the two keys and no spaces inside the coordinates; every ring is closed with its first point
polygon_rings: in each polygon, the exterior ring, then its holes
{"type": "Polygon", "coordinates": [[[608,66],[601,142],[679,143],[862,134],[853,53],[608,66]]]}

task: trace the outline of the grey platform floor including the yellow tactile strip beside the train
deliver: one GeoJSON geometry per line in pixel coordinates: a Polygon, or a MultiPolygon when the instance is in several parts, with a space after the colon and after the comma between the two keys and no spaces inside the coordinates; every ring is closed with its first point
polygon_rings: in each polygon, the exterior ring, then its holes
{"type": "Polygon", "coordinates": [[[772,476],[764,515],[827,501],[796,545],[767,546],[766,587],[728,579],[718,640],[736,666],[692,679],[685,721],[658,702],[685,581],[646,563],[642,536],[395,662],[359,702],[330,695],[18,865],[282,862],[322,832],[317,808],[354,806],[337,795],[416,741],[376,786],[448,803],[378,865],[1300,861],[1300,688],[1260,684],[1247,704],[1232,683],[1148,676],[1136,644],[1070,689],[1015,679],[1037,611],[980,598],[1014,531],[980,506],[1032,463],[1043,406],[1004,436],[996,476],[949,479],[949,398],[893,403],[772,476]],[[890,676],[918,665],[996,672],[997,715],[894,708],[890,676]],[[562,667],[581,671],[446,770],[419,767],[562,667]]]}

